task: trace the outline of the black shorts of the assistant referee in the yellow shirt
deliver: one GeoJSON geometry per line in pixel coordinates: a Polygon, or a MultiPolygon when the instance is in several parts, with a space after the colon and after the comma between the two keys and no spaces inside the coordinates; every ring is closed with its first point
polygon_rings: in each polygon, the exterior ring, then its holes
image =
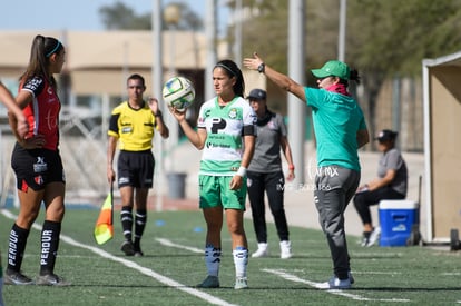
{"type": "Polygon", "coordinates": [[[154,155],[150,150],[124,151],[118,156],[118,188],[131,186],[136,188],[153,188],[154,155]]]}

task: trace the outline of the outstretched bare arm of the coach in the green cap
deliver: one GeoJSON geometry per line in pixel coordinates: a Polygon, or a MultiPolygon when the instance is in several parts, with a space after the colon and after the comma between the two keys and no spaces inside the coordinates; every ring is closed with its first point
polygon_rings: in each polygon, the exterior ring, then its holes
{"type": "Polygon", "coordinates": [[[253,58],[245,58],[243,63],[251,70],[259,71],[261,73],[266,75],[266,77],[276,86],[295,95],[301,100],[306,101],[303,86],[295,82],[287,76],[272,69],[256,52],[253,53],[253,58]]]}

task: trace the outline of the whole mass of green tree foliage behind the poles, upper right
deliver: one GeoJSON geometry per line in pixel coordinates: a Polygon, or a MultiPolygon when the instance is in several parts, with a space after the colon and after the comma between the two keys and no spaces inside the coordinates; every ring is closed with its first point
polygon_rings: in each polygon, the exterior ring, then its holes
{"type": "MultiPolygon", "coordinates": [[[[257,50],[275,69],[287,72],[288,3],[247,0],[244,55],[257,50]]],[[[305,1],[305,63],[310,68],[337,58],[340,0],[305,1]]],[[[420,78],[422,59],[459,51],[459,0],[347,0],[345,61],[362,76],[360,102],[374,134],[377,95],[385,80],[420,78]]],[[[232,33],[232,32],[229,32],[232,33]]]]}

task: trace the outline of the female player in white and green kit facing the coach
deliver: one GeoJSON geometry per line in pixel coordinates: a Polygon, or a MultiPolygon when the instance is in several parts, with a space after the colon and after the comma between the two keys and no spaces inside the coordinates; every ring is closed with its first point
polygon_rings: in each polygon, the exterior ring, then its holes
{"type": "Polygon", "coordinates": [[[247,288],[248,244],[243,215],[246,198],[246,168],[255,146],[256,116],[244,99],[241,69],[232,60],[222,60],[213,69],[216,97],[200,107],[197,130],[186,121],[185,112],[170,109],[184,134],[203,150],[199,171],[199,206],[207,225],[205,264],[208,276],[202,288],[219,287],[220,229],[226,211],[227,229],[236,272],[235,289],[247,288]]]}

